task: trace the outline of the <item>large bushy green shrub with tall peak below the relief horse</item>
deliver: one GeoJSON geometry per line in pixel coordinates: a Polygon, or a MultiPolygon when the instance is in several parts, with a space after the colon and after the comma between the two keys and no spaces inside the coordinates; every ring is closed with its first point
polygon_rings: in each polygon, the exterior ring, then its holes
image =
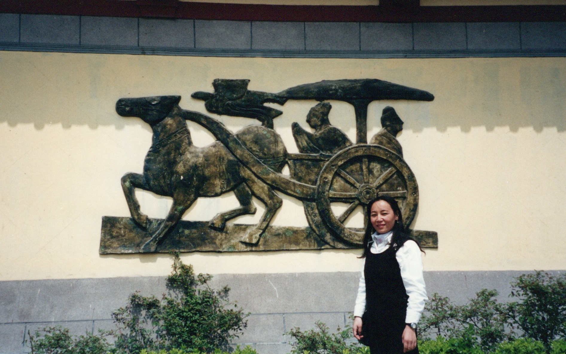
{"type": "Polygon", "coordinates": [[[192,266],[175,255],[173,272],[167,278],[172,296],[130,295],[128,305],[113,313],[118,326],[115,346],[125,354],[142,349],[228,349],[229,340],[246,328],[247,314],[227,300],[228,287],[211,289],[211,279],[209,274],[195,276],[192,266]]]}

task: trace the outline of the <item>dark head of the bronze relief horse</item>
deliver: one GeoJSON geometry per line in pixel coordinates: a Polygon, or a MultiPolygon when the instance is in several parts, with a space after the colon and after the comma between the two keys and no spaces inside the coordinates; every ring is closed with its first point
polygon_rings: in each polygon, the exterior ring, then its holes
{"type": "Polygon", "coordinates": [[[122,117],[139,117],[153,126],[164,120],[180,101],[181,96],[121,98],[116,102],[116,112],[122,117]]]}

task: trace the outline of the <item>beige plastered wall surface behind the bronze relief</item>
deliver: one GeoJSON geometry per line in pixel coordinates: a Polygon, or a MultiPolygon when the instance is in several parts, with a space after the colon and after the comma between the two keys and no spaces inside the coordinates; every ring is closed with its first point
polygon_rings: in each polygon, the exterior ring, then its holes
{"type": "MultiPolygon", "coordinates": [[[[377,101],[405,121],[398,137],[417,176],[414,228],[439,233],[426,270],[566,269],[566,59],[258,59],[0,52],[0,280],[154,276],[168,255],[98,255],[101,217],[128,216],[120,186],[141,172],[151,130],[120,117],[121,97],[181,94],[214,78],[250,78],[277,92],[339,78],[380,78],[428,90],[433,102],[377,101]]],[[[316,102],[289,102],[275,120],[288,150],[290,125],[307,128],[316,102]]],[[[353,108],[332,102],[331,122],[354,140],[353,108]]],[[[220,117],[237,130],[254,120],[220,117]]],[[[190,123],[195,145],[212,137],[190,123]]],[[[168,198],[139,192],[142,209],[164,217],[168,198]]],[[[306,226],[301,203],[283,196],[274,225],[306,226]]],[[[199,199],[186,220],[208,220],[233,195],[199,199]]],[[[259,207],[261,204],[258,205],[259,207]]],[[[258,216],[238,218],[252,223],[258,216]]],[[[359,251],[186,254],[207,273],[358,270],[359,251]]]]}

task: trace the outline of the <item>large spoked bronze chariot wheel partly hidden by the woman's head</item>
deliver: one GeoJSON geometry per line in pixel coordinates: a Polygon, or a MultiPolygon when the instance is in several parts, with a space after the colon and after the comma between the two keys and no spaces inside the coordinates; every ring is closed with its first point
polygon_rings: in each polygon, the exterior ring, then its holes
{"type": "Polygon", "coordinates": [[[309,224],[323,241],[335,247],[338,246],[336,241],[362,246],[363,228],[349,226],[348,220],[360,207],[365,219],[368,203],[378,195],[389,195],[397,200],[405,227],[413,222],[418,206],[417,180],[401,156],[379,145],[358,144],[345,148],[320,172],[316,205],[308,207],[309,224]]]}

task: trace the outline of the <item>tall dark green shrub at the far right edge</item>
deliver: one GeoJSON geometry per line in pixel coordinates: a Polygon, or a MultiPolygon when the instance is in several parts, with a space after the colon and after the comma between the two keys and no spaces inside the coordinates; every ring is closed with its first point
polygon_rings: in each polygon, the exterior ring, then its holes
{"type": "Polygon", "coordinates": [[[513,323],[550,354],[552,341],[566,337],[566,274],[522,274],[511,287],[511,296],[520,299],[509,303],[513,323]]]}

